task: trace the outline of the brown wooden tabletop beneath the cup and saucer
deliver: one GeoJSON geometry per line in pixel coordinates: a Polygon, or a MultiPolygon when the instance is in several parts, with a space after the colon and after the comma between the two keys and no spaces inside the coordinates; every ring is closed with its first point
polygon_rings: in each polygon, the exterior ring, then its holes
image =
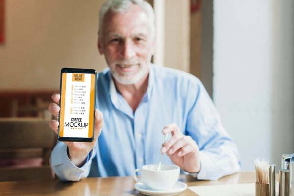
{"type": "MultiPolygon", "coordinates": [[[[240,172],[217,181],[197,181],[181,175],[180,181],[188,186],[237,184],[255,182],[255,172],[240,172]]],[[[134,189],[132,177],[86,178],[79,182],[20,181],[0,182],[1,196],[144,196],[134,189]]],[[[188,188],[178,196],[197,196],[188,188]]]]}

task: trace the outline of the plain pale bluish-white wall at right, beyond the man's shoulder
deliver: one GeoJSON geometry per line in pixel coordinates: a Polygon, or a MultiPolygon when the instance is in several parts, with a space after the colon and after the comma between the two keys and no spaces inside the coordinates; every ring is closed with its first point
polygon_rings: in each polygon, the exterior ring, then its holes
{"type": "Polygon", "coordinates": [[[293,10],[292,0],[214,0],[213,97],[242,170],[253,170],[256,157],[280,167],[281,153],[294,152],[293,10]],[[276,13],[285,3],[290,8],[276,13]],[[279,101],[290,107],[275,110],[279,101]]]}

